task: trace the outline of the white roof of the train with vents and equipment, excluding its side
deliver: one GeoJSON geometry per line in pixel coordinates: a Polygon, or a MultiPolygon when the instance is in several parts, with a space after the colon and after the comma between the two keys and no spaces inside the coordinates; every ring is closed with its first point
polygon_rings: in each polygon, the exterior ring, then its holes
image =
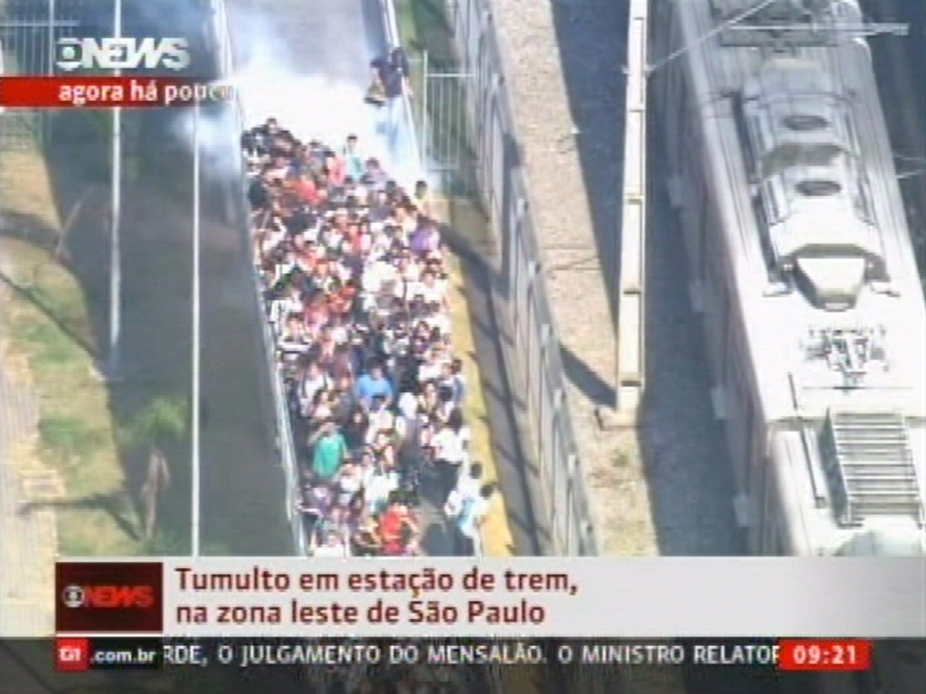
{"type": "Polygon", "coordinates": [[[839,527],[898,515],[921,532],[926,304],[861,14],[845,0],[676,9],[763,419],[802,423],[786,445],[819,458],[829,526],[835,508],[839,527]],[[885,502],[874,459],[903,468],[904,499],[885,502]]]}

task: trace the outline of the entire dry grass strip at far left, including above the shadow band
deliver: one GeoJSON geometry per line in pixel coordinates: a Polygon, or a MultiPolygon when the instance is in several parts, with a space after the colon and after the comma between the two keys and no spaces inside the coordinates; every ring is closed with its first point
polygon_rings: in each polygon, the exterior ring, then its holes
{"type": "Polygon", "coordinates": [[[24,370],[39,398],[37,445],[18,465],[49,468],[65,497],[51,503],[64,555],[134,554],[136,525],[114,436],[106,385],[94,377],[94,332],[81,285],[50,253],[61,230],[38,147],[4,153],[0,294],[4,367],[24,370]]]}

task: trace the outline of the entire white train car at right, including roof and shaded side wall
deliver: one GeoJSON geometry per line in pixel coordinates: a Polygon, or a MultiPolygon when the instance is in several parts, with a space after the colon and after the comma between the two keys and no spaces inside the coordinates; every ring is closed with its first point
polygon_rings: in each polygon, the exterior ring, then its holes
{"type": "Polygon", "coordinates": [[[750,551],[920,555],[926,306],[858,7],[654,10],[650,94],[750,551]]]}

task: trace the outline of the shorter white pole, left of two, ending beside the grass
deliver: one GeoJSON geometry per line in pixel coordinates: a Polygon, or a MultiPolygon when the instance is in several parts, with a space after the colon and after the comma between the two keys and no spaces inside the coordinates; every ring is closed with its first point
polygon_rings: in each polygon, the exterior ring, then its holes
{"type": "MultiPolygon", "coordinates": [[[[122,38],[122,0],[115,0],[113,6],[113,38],[122,38]]],[[[121,70],[115,70],[116,77],[121,70]]],[[[106,377],[119,379],[121,371],[122,338],[122,108],[113,108],[112,130],[112,182],[110,189],[109,219],[109,360],[106,377]]]]}

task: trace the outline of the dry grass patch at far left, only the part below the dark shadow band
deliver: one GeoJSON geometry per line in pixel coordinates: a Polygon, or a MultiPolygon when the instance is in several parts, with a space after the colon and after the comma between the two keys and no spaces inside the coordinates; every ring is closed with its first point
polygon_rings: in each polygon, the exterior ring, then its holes
{"type": "Polygon", "coordinates": [[[3,327],[11,352],[25,356],[39,395],[39,462],[56,471],[66,490],[66,497],[54,502],[58,551],[136,553],[135,514],[106,386],[94,378],[93,354],[72,333],[90,332],[81,287],[65,267],[28,242],[6,240],[4,253],[8,280],[21,291],[4,291],[3,327]],[[42,271],[34,273],[37,267],[42,271]],[[36,295],[63,298],[49,305],[36,295]]]}

